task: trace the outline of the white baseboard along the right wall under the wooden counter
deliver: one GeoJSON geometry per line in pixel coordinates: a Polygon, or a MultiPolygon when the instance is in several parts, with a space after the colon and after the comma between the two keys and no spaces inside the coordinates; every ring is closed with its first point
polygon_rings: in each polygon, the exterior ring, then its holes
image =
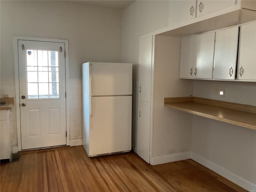
{"type": "Polygon", "coordinates": [[[214,162],[199,156],[198,154],[194,152],[190,152],[190,158],[194,160],[195,162],[198,162],[199,164],[207,167],[208,169],[216,172],[217,174],[221,175],[222,177],[230,180],[231,182],[237,184],[238,186],[248,190],[249,192],[256,192],[256,184],[253,182],[250,182],[241,176],[234,174],[230,172],[229,170],[225,169],[222,166],[219,166],[215,164],[214,162]]]}

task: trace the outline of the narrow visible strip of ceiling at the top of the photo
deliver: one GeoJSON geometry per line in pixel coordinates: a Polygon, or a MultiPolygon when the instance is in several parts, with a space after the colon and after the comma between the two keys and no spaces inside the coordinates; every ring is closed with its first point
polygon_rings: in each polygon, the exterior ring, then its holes
{"type": "Polygon", "coordinates": [[[73,0],[73,2],[117,10],[124,10],[135,0],[73,0]]]}

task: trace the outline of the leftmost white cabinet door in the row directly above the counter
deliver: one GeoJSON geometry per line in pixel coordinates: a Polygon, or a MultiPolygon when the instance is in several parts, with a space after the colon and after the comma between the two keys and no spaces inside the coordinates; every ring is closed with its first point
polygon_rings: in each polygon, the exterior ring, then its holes
{"type": "Polygon", "coordinates": [[[180,49],[180,78],[192,78],[194,67],[195,36],[181,39],[180,49]]]}

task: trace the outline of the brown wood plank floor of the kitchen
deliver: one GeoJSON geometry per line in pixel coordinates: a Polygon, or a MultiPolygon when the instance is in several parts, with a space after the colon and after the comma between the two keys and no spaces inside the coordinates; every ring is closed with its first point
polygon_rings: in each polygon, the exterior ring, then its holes
{"type": "Polygon", "coordinates": [[[29,151],[1,164],[0,191],[244,192],[184,160],[151,166],[134,152],[88,158],[82,146],[29,151]]]}

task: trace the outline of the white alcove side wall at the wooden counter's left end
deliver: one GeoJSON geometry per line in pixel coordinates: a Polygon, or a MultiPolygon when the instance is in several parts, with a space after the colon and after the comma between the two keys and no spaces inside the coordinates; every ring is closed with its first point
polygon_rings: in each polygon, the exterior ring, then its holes
{"type": "Polygon", "coordinates": [[[165,97],[193,94],[193,81],[179,78],[179,64],[180,38],[156,36],[153,158],[190,151],[192,115],[164,106],[165,97]]]}

